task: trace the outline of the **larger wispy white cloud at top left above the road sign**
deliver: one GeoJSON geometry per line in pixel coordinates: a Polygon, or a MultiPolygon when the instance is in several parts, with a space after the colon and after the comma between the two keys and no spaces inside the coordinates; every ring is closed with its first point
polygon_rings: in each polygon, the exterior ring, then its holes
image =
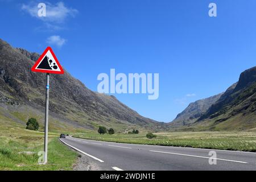
{"type": "Polygon", "coordinates": [[[32,17],[43,20],[44,22],[51,23],[63,23],[68,17],[74,17],[79,11],[72,9],[72,7],[67,7],[63,2],[57,2],[55,5],[52,5],[49,2],[46,2],[46,16],[38,16],[38,3],[31,2],[27,5],[23,4],[21,9],[26,11],[32,17]]]}

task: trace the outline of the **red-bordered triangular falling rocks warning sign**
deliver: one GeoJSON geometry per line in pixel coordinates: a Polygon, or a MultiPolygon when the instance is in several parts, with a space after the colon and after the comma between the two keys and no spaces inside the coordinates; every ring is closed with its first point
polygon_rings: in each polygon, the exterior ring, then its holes
{"type": "Polygon", "coordinates": [[[31,68],[32,72],[64,74],[64,70],[61,67],[57,57],[52,51],[51,47],[47,47],[43,54],[36,61],[31,68]]]}

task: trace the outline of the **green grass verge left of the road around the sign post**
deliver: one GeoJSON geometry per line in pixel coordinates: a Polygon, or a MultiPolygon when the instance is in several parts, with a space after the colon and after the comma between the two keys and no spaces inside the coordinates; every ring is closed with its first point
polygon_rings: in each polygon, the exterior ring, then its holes
{"type": "Polygon", "coordinates": [[[19,125],[1,125],[0,170],[72,170],[78,154],[62,144],[57,133],[49,133],[48,140],[48,163],[39,165],[38,152],[43,151],[44,133],[19,125]],[[27,151],[31,154],[26,154],[27,151]]]}

